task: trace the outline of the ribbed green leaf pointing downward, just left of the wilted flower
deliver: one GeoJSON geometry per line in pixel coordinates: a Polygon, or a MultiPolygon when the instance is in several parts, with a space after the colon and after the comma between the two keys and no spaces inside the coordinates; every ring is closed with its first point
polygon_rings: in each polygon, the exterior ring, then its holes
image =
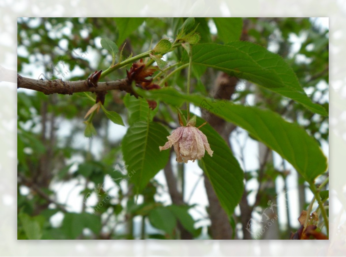
{"type": "Polygon", "coordinates": [[[165,167],[169,151],[160,152],[158,147],[166,143],[168,135],[168,131],[156,122],[139,121],[129,127],[122,139],[122,153],[137,193],[165,167]]]}

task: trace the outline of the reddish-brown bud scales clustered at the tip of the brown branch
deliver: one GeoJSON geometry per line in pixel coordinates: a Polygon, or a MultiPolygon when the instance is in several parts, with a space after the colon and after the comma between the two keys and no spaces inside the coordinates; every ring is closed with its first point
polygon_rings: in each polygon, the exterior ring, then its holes
{"type": "MultiPolygon", "coordinates": [[[[157,70],[156,67],[146,67],[145,63],[142,59],[139,62],[135,62],[132,64],[130,71],[126,70],[127,79],[129,83],[132,81],[136,82],[136,86],[145,90],[158,89],[159,85],[153,83],[153,79],[147,79],[154,74],[157,70]]],[[[155,109],[157,106],[156,101],[147,100],[149,107],[151,109],[155,109]]]]}

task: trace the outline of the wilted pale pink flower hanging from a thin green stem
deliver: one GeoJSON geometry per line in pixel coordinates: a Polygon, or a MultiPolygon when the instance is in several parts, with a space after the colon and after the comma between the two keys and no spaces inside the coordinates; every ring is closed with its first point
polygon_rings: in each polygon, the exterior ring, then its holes
{"type": "Polygon", "coordinates": [[[172,135],[167,136],[168,142],[163,147],[159,147],[160,151],[174,147],[177,162],[185,162],[188,160],[200,160],[207,150],[210,156],[213,156],[213,151],[210,149],[207,136],[204,135],[197,127],[196,117],[190,119],[186,127],[178,127],[172,135]]]}

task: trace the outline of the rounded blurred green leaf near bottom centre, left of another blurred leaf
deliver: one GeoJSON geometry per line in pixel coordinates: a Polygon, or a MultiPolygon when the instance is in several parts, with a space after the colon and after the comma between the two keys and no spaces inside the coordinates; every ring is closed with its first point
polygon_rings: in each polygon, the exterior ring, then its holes
{"type": "Polygon", "coordinates": [[[159,206],[149,213],[149,221],[155,228],[161,229],[168,234],[172,234],[176,226],[173,213],[163,206],[159,206]]]}

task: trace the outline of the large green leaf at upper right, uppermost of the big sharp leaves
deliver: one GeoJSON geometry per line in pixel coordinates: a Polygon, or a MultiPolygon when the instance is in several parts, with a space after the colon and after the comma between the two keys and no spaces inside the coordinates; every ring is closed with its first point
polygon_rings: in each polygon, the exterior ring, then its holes
{"type": "MultiPolygon", "coordinates": [[[[187,54],[183,61],[189,61],[187,54]]],[[[301,103],[312,112],[328,115],[321,105],[312,103],[300,86],[297,76],[282,57],[262,46],[245,41],[232,42],[229,45],[197,44],[192,47],[192,63],[252,81],[301,103]]]]}

